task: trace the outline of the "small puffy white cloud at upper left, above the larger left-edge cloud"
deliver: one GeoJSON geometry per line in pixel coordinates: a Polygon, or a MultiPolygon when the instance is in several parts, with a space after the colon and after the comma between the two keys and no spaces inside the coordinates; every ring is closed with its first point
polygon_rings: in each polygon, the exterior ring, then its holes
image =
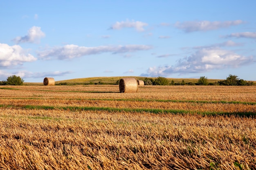
{"type": "Polygon", "coordinates": [[[17,44],[23,43],[23,42],[39,43],[40,39],[44,37],[45,37],[45,33],[41,31],[41,27],[32,26],[27,32],[27,35],[25,35],[24,37],[16,37],[15,39],[13,39],[13,41],[16,42],[17,44]]]}

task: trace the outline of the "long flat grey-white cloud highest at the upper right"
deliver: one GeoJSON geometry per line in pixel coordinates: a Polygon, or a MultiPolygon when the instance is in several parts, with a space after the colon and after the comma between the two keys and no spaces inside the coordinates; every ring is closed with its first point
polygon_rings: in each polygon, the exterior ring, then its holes
{"type": "Polygon", "coordinates": [[[175,27],[181,29],[185,32],[194,31],[209,31],[220,28],[227,28],[229,26],[240,25],[244,22],[242,20],[235,21],[186,21],[186,22],[176,22],[175,27]]]}

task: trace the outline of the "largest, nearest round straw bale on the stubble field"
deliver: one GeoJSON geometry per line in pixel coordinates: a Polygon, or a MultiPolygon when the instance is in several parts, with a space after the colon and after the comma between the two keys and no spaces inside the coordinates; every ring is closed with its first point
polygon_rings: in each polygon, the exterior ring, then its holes
{"type": "Polygon", "coordinates": [[[120,93],[136,93],[138,90],[137,80],[135,78],[123,78],[119,81],[120,93]]]}

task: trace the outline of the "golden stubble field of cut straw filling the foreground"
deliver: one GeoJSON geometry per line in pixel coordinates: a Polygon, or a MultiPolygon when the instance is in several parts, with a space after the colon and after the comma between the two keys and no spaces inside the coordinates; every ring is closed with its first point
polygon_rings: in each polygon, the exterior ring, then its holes
{"type": "Polygon", "coordinates": [[[254,170],[256,86],[1,86],[0,169],[254,170]]]}

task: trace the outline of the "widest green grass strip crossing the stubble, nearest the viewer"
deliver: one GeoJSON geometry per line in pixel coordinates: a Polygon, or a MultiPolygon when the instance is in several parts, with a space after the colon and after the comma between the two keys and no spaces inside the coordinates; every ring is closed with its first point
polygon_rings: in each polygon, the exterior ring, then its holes
{"type": "MultiPolygon", "coordinates": [[[[16,106],[4,106],[0,105],[0,107],[4,108],[16,108],[16,106]]],[[[154,114],[200,114],[200,115],[236,115],[241,117],[256,117],[255,112],[198,112],[196,110],[175,110],[175,109],[151,109],[151,108],[111,108],[111,107],[79,107],[79,106],[33,106],[33,105],[25,105],[20,106],[22,109],[31,109],[31,110],[92,110],[92,111],[108,111],[108,112],[130,112],[130,113],[154,113],[154,114]]]]}

